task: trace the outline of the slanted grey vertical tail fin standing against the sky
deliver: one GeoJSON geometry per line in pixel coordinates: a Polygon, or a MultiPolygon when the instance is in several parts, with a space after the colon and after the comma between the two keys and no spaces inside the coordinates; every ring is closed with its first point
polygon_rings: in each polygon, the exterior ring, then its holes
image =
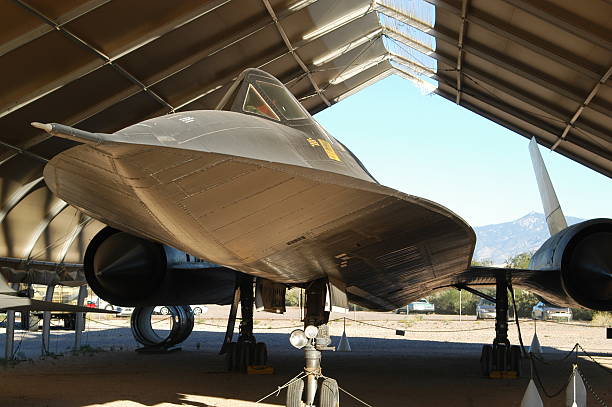
{"type": "Polygon", "coordinates": [[[532,137],[529,142],[529,153],[531,154],[531,163],[533,164],[533,171],[535,172],[538,189],[540,190],[540,198],[542,199],[548,230],[551,236],[556,235],[567,228],[567,221],[565,216],[563,216],[561,205],[559,205],[557,194],[550,181],[550,176],[544,165],[544,160],[542,160],[535,137],[532,137]]]}

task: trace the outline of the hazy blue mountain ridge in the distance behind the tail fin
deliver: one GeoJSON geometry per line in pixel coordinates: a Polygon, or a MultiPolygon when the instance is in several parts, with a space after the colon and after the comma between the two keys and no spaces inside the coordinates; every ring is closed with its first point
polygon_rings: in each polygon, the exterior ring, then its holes
{"type": "MultiPolygon", "coordinates": [[[[567,217],[573,225],[584,219],[567,217]]],[[[475,227],[476,252],[474,260],[491,260],[504,264],[519,253],[536,251],[550,237],[544,214],[531,212],[512,222],[475,227]]]]}

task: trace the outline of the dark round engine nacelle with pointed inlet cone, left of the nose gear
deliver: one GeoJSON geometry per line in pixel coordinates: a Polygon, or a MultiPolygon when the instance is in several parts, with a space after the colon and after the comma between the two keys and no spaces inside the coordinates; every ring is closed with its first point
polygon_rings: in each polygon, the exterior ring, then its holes
{"type": "Polygon", "coordinates": [[[111,227],[91,240],[85,278],[102,299],[122,306],[230,304],[236,271],[111,227]]]}

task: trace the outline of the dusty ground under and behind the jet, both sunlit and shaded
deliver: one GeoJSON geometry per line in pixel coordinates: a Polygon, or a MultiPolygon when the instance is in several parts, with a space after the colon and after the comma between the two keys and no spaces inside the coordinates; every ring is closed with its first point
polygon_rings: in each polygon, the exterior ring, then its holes
{"type": "MultiPolygon", "coordinates": [[[[51,354],[41,357],[40,332],[17,331],[15,346],[22,361],[0,368],[0,406],[254,406],[302,369],[302,351],[288,342],[288,333],[300,326],[299,310],[285,315],[256,313],[255,332],[266,342],[273,375],[246,375],[225,371],[218,355],[228,308],[211,306],[196,321],[181,351],[143,355],[129,329],[129,318],[88,316],[83,349],[73,352],[74,333],[53,330],[51,354]]],[[[165,317],[156,317],[163,328],[165,317]]],[[[0,316],[0,320],[2,317],[0,316]]],[[[494,321],[474,316],[396,315],[351,312],[331,317],[334,345],[346,327],[351,352],[325,352],[324,374],[371,406],[519,406],[530,379],[529,361],[523,361],[519,379],[494,380],[480,375],[482,344],[493,339],[494,321]],[[346,318],[346,320],[344,320],[346,318]],[[405,335],[396,334],[396,329],[405,335]]],[[[549,393],[568,380],[576,362],[593,392],[612,405],[612,340],[603,327],[585,322],[520,321],[525,346],[534,330],[547,363],[536,369],[549,393]],[[579,353],[558,361],[579,343],[593,359],[579,353]]],[[[4,328],[0,346],[4,349],[4,328]]],[[[510,340],[518,344],[510,325],[510,340]]],[[[598,405],[589,392],[588,405],[598,405]]],[[[545,406],[564,406],[565,393],[547,398],[545,406]]],[[[341,393],[343,407],[360,402],[341,393]]],[[[258,405],[284,405],[284,391],[258,405]]]]}

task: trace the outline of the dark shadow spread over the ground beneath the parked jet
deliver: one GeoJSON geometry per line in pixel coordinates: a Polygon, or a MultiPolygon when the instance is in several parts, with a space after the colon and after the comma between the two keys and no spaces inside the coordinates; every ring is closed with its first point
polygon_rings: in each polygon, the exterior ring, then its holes
{"type": "MultiPolygon", "coordinates": [[[[118,328],[96,336],[106,338],[108,344],[108,338],[131,336],[131,332],[118,328]]],[[[227,373],[223,357],[217,354],[223,334],[197,331],[183,344],[183,350],[176,353],[141,355],[133,350],[106,350],[5,367],[0,370],[0,405],[84,407],[113,402],[113,406],[128,402],[144,406],[250,405],[245,402],[274,391],[299,373],[303,363],[302,352],[291,348],[287,334],[258,333],[257,338],[268,344],[274,375],[227,373]]],[[[334,343],[337,341],[335,337],[334,343]]],[[[98,346],[91,337],[88,344],[98,346]]],[[[527,361],[523,364],[527,377],[482,378],[478,362],[480,344],[403,337],[352,337],[350,344],[353,349],[350,353],[324,353],[324,373],[372,406],[518,406],[529,380],[527,361]]],[[[22,346],[27,350],[39,344],[26,340],[22,346]]],[[[546,354],[550,360],[561,356],[560,351],[546,354]]],[[[538,365],[550,392],[567,381],[571,359],[538,365]]],[[[579,363],[599,396],[612,403],[610,373],[589,361],[579,363]]],[[[345,395],[341,400],[343,407],[361,405],[345,395]]],[[[564,400],[565,395],[561,394],[544,401],[546,406],[554,406],[562,405],[564,400]]],[[[284,405],[284,392],[266,402],[284,405]]]]}

